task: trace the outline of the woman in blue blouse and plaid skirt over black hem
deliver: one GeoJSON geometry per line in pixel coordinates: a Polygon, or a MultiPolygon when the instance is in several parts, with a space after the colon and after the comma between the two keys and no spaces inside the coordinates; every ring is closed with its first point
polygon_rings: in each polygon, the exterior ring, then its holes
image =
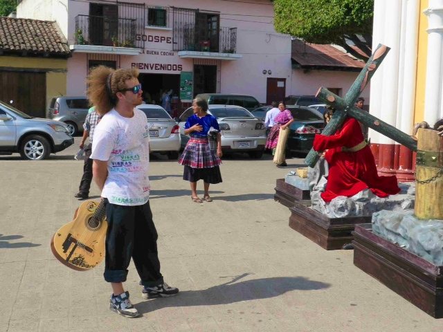
{"type": "Polygon", "coordinates": [[[221,183],[221,135],[217,119],[208,114],[208,103],[203,98],[192,101],[194,114],[185,124],[185,134],[190,135],[190,140],[181,154],[179,163],[185,166],[183,180],[190,182],[191,199],[195,203],[202,200],[197,196],[197,181],[204,181],[204,197],[207,202],[213,199],[209,196],[209,185],[221,183]],[[217,149],[211,150],[208,142],[208,131],[213,127],[217,130],[217,149]]]}

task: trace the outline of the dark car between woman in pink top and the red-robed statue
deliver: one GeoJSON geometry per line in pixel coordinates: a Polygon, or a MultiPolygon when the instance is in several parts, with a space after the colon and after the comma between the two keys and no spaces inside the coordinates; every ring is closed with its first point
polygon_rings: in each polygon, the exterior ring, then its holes
{"type": "Polygon", "coordinates": [[[287,156],[292,153],[307,153],[312,148],[314,136],[325,127],[323,114],[316,109],[303,106],[287,106],[294,121],[289,125],[287,156]]]}

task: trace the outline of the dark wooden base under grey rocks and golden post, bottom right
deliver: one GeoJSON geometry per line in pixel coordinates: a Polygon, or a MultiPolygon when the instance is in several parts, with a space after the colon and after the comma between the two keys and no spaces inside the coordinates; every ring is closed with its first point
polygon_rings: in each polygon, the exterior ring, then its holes
{"type": "Polygon", "coordinates": [[[379,237],[370,223],[356,225],[353,235],[355,266],[432,317],[443,317],[443,266],[379,237]]]}

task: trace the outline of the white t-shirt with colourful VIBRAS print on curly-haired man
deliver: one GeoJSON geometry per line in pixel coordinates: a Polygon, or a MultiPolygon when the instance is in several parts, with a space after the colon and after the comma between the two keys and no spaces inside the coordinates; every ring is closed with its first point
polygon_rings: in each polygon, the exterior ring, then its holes
{"type": "Polygon", "coordinates": [[[139,109],[132,118],[111,109],[97,124],[90,158],[108,162],[102,197],[109,203],[143,205],[149,200],[149,142],[147,118],[139,109]]]}

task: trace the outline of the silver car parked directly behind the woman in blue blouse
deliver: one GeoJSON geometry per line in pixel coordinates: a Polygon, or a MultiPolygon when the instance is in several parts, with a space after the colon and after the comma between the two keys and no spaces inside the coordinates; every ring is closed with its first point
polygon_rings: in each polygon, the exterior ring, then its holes
{"type": "MultiPolygon", "coordinates": [[[[189,140],[185,135],[186,120],[194,112],[192,107],[184,111],[177,119],[180,127],[181,146],[189,140]]],[[[266,135],[262,120],[258,120],[250,111],[239,106],[209,105],[208,113],[217,118],[221,131],[221,150],[224,154],[246,152],[251,158],[262,158],[266,135]]]]}

